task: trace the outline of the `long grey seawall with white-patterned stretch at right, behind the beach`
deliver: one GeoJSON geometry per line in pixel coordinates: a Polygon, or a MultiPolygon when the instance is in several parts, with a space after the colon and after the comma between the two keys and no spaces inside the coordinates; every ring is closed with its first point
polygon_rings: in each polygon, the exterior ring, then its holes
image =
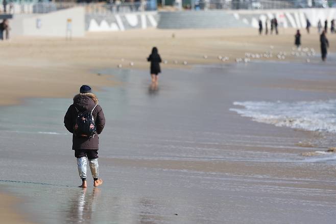
{"type": "MultiPolygon", "coordinates": [[[[276,17],[279,27],[303,28],[306,18],[313,27],[318,20],[322,24],[336,18],[335,8],[277,9],[277,10],[212,10],[159,12],[159,29],[204,29],[204,28],[243,28],[258,27],[258,20],[265,24],[266,19],[276,17]]],[[[330,27],[330,25],[329,25],[330,27]]]]}

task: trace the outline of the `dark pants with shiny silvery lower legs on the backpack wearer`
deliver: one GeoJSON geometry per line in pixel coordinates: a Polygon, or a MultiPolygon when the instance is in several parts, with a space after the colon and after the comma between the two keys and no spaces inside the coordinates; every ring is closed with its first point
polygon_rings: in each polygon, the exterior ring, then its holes
{"type": "Polygon", "coordinates": [[[75,157],[77,158],[78,173],[81,179],[86,178],[86,164],[89,161],[89,166],[93,178],[98,178],[98,150],[75,150],[75,157]]]}

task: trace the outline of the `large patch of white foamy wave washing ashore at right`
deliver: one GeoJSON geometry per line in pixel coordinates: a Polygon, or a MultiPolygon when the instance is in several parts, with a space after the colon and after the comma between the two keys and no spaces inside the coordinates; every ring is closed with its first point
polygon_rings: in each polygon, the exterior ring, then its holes
{"type": "Polygon", "coordinates": [[[336,100],[300,102],[234,102],[243,117],[281,127],[336,132],[336,100]]]}

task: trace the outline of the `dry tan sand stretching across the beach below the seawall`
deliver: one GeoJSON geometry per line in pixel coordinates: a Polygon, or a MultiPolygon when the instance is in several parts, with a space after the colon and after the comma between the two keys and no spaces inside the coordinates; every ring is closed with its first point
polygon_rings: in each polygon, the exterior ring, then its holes
{"type": "MultiPolygon", "coordinates": [[[[83,84],[94,88],[115,84],[104,74],[92,70],[115,68],[148,69],[146,57],[157,46],[167,67],[223,63],[218,55],[229,57],[233,62],[244,57],[245,52],[263,53],[291,52],[294,29],[280,29],[280,35],[259,36],[256,29],[217,30],[130,30],[125,32],[88,33],[84,38],[66,41],[62,38],[18,37],[0,42],[0,105],[17,104],[31,97],[71,97],[83,84]],[[174,38],[172,37],[174,34],[174,38]],[[208,58],[204,59],[203,56],[208,58]],[[122,61],[124,58],[124,61],[122,61]],[[174,60],[178,64],[174,64],[174,60]]],[[[302,47],[319,52],[319,35],[315,29],[307,35],[302,33],[302,47]]],[[[336,51],[336,35],[328,35],[329,52],[336,51]]],[[[275,59],[273,59],[275,60],[275,59]]],[[[304,60],[287,57],[286,60],[304,60]]]]}

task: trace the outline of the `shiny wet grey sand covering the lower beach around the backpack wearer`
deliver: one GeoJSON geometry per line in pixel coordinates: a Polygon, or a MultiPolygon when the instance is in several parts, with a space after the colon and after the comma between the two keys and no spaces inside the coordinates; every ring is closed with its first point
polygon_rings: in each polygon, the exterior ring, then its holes
{"type": "Polygon", "coordinates": [[[335,161],[301,153],[326,150],[334,135],[324,142],[324,133],[230,110],[235,101],[335,99],[313,88],[314,80],[336,81],[335,65],[318,59],[165,69],[157,91],[147,70],[95,71],[123,83],[97,93],[108,124],[100,190],[89,177],[86,191],[76,187],[71,136],[60,122],[71,98],[1,107],[0,187],[25,198],[22,207],[41,223],[331,223],[335,161]],[[294,78],[313,87],[296,88],[294,78]]]}

